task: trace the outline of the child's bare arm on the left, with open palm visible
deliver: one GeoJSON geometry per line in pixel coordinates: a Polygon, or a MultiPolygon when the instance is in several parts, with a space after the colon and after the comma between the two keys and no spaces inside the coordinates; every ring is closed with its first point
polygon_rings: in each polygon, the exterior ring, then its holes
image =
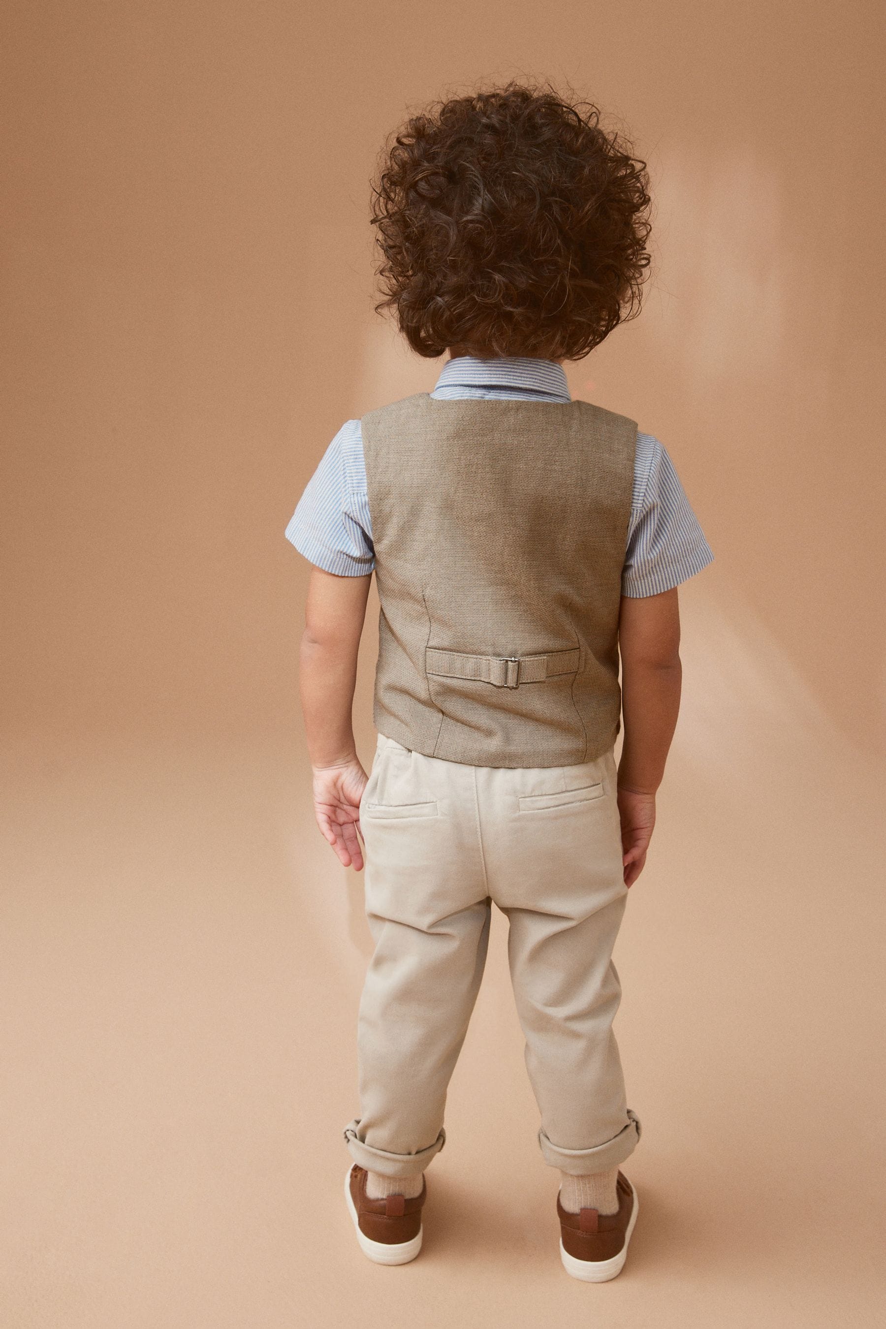
{"type": "Polygon", "coordinates": [[[351,707],[371,581],[372,574],[337,577],[312,567],[299,668],[313,813],[341,863],[357,872],[360,796],[368,776],[353,743],[351,707]]]}

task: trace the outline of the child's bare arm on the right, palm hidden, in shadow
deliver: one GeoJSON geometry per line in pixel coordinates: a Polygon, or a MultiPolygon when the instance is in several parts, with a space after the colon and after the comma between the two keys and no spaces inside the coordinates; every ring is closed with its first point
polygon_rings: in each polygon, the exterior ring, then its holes
{"type": "Polygon", "coordinates": [[[664,775],[680,710],[680,610],[676,586],[660,595],[622,598],[624,740],[618,801],[626,886],[646,864],[655,827],[655,791],[664,775]]]}

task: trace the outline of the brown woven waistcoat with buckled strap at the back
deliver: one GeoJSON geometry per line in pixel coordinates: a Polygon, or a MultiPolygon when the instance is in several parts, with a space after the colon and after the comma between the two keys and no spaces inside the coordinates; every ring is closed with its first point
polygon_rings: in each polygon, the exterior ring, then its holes
{"type": "Polygon", "coordinates": [[[620,718],[636,421],[580,400],[422,392],[360,427],[379,732],[469,766],[600,756],[620,718]]]}

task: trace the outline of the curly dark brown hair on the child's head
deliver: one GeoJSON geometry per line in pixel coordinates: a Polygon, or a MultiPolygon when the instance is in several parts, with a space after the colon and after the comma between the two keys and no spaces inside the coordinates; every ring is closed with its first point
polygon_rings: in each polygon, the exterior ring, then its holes
{"type": "Polygon", "coordinates": [[[640,312],[646,162],[550,85],[434,102],[372,181],[377,276],[409,346],[580,360],[640,312]]]}

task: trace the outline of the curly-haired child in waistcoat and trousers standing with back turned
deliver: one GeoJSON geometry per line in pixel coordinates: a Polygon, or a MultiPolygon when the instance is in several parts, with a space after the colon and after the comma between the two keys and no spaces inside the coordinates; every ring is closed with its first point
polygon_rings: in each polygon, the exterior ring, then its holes
{"type": "Polygon", "coordinates": [[[566,1271],[615,1277],[636,1220],[611,956],[677,718],[677,586],[712,554],[659,440],[571,399],[562,365],[639,312],[647,185],[598,110],[550,88],[412,117],[373,183],[379,307],[448,359],[433,392],[343,425],[287,528],[313,563],[316,820],[343,864],[365,849],[376,945],[345,1199],[381,1264],[421,1247],[493,904],[566,1271]],[[373,571],[367,776],[351,707],[373,571]]]}

